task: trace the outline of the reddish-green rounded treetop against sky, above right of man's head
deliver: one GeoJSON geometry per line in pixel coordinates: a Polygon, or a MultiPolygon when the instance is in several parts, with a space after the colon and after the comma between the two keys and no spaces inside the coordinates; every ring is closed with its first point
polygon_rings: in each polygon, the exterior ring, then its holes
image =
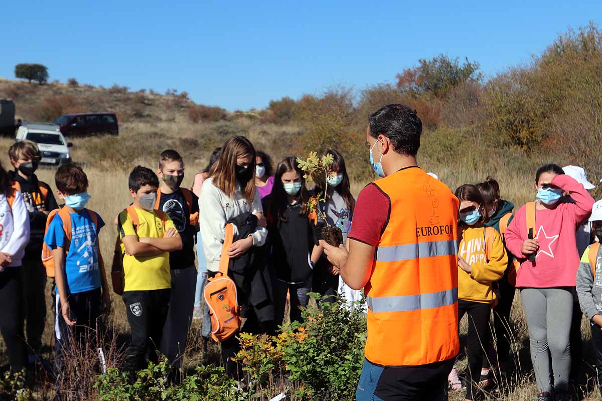
{"type": "Polygon", "coordinates": [[[421,58],[420,65],[397,74],[397,88],[412,96],[432,95],[445,97],[452,89],[467,81],[480,81],[479,63],[465,58],[460,64],[458,57],[450,59],[441,54],[431,60],[421,58]]]}

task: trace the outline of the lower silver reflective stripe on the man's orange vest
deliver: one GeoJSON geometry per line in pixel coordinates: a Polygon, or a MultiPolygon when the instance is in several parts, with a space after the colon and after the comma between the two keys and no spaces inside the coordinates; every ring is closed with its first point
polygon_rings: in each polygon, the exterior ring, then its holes
{"type": "Polygon", "coordinates": [[[418,295],[379,296],[378,298],[367,296],[366,302],[368,308],[374,313],[440,308],[458,302],[458,289],[418,295]]]}

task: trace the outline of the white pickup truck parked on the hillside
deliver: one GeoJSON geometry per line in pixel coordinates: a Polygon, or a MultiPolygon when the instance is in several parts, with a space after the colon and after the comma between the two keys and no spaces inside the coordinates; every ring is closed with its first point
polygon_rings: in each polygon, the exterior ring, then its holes
{"type": "Polygon", "coordinates": [[[71,142],[65,141],[60,127],[48,123],[24,123],[17,130],[17,141],[36,142],[40,148],[42,159],[40,164],[59,166],[71,163],[69,148],[71,142]]]}

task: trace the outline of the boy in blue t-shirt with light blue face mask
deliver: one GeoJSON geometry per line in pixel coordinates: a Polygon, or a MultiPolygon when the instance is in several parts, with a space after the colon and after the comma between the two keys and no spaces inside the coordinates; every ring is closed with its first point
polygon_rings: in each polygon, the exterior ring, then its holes
{"type": "Polygon", "coordinates": [[[72,228],[67,243],[63,219],[57,213],[44,236],[44,242],[52,249],[54,260],[57,293],[55,373],[60,373],[64,366],[63,349],[71,343],[69,337],[75,335],[75,341],[81,341],[93,334],[96,320],[101,310],[109,310],[111,298],[98,247],[98,232],[104,226],[104,221],[98,213],[84,209],[90,199],[85,192],[88,189],[88,177],[81,167],[70,164],[59,167],[54,180],[57,195],[64,200],[64,208],[69,212],[72,228]]]}

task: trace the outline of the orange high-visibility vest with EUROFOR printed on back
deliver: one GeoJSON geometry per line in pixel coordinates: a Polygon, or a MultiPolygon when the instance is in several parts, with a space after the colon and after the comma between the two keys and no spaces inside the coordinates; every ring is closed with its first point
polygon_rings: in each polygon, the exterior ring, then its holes
{"type": "Polygon", "coordinates": [[[420,168],[374,182],[389,219],[364,287],[365,357],[382,366],[419,366],[458,355],[458,209],[447,186],[420,168]]]}

